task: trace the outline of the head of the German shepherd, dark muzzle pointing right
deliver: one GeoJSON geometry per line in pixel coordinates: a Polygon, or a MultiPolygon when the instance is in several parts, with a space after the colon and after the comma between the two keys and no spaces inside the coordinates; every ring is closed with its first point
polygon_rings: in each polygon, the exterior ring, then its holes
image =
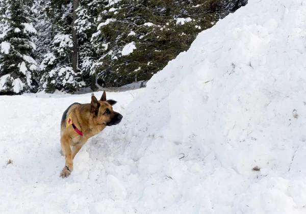
{"type": "Polygon", "coordinates": [[[106,92],[103,92],[100,100],[97,100],[95,96],[91,97],[91,109],[90,112],[93,114],[94,122],[97,124],[105,124],[108,126],[117,125],[122,120],[122,115],[118,112],[113,111],[112,105],[116,104],[117,101],[106,99],[106,92]]]}

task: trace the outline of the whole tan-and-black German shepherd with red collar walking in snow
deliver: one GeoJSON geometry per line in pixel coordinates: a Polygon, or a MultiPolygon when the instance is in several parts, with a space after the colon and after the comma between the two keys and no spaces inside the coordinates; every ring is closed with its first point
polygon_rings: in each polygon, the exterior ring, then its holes
{"type": "Polygon", "coordinates": [[[65,167],[61,177],[68,177],[73,170],[73,158],[89,138],[97,135],[106,126],[121,122],[122,115],[113,111],[115,100],[106,99],[106,92],[100,100],[91,97],[91,103],[71,104],[63,114],[61,121],[61,153],[65,156],[65,167]],[[72,151],[71,148],[72,147],[72,151]]]}

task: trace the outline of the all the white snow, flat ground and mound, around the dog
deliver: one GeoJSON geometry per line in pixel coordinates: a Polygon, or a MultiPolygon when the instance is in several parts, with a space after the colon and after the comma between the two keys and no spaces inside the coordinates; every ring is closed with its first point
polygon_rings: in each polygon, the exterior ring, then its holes
{"type": "Polygon", "coordinates": [[[306,213],[305,38],[302,0],[249,1],[145,89],[110,93],[123,120],[67,179],[60,117],[90,95],[0,97],[0,212],[306,213]]]}

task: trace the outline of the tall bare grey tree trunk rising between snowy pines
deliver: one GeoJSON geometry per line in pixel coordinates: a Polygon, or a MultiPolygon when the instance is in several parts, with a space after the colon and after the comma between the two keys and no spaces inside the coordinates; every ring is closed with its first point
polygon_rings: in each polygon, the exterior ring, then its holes
{"type": "Polygon", "coordinates": [[[72,41],[73,47],[71,52],[71,63],[72,69],[75,73],[78,72],[78,55],[79,55],[79,47],[78,47],[78,30],[74,29],[75,20],[78,19],[77,12],[75,12],[79,7],[79,0],[73,0],[73,17],[72,17],[72,41]]]}

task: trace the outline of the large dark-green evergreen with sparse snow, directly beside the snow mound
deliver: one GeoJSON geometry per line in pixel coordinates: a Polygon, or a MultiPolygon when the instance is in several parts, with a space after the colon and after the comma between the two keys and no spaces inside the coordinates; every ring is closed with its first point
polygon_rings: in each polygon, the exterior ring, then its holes
{"type": "Polygon", "coordinates": [[[223,0],[105,2],[92,38],[99,56],[95,72],[105,87],[148,80],[187,50],[196,35],[211,28],[225,10],[237,9],[223,0]],[[213,7],[218,10],[212,11],[213,7]]]}

